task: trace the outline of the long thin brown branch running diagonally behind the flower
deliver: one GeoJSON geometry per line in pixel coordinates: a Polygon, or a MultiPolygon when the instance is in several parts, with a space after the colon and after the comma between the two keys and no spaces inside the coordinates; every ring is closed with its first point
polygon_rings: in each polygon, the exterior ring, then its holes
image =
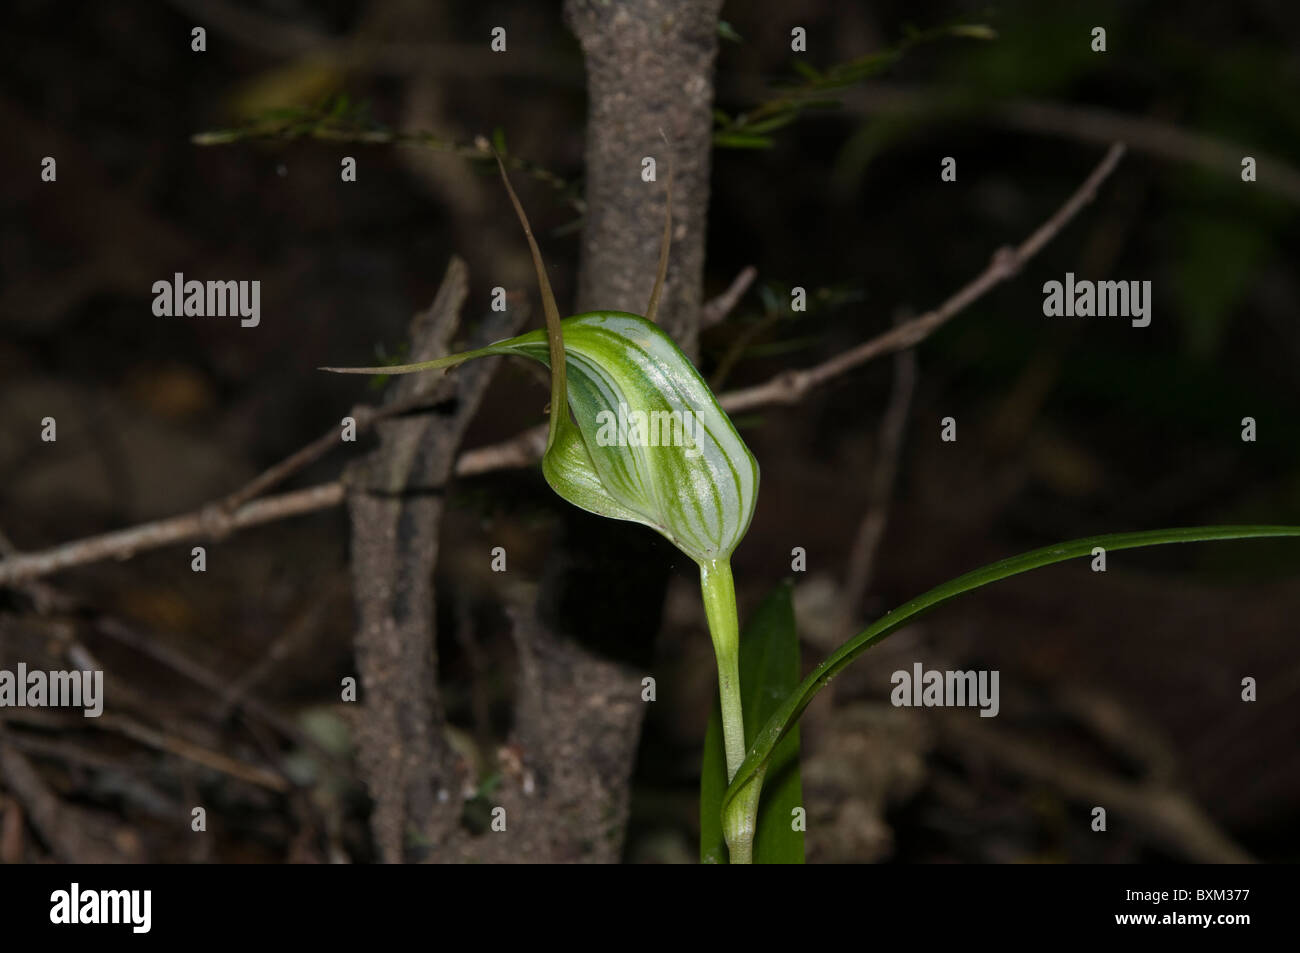
{"type": "MultiPolygon", "coordinates": [[[[1004,247],[994,252],[992,261],[989,261],[983,273],[935,311],[907,321],[815,367],[801,371],[784,371],[766,384],[722,394],[718,400],[723,410],[736,413],[757,407],[797,403],[812,387],[820,386],[884,354],[892,354],[924,341],[963,308],[1015,274],[1043,246],[1056,238],[1061,229],[1093,199],[1097,189],[1114,170],[1123,152],[1124,147],[1122,143],[1113,144],[1106,152],[1105,159],[1101,160],[1074,195],[1057,209],[1056,215],[1039,226],[1019,247],[1004,247]]],[[[413,403],[412,407],[406,410],[412,410],[426,400],[428,395],[424,395],[420,402],[413,403]]],[[[377,420],[378,417],[374,419],[377,420]]],[[[358,426],[361,426],[360,417],[358,419],[358,426]]],[[[259,476],[254,484],[273,485],[280,482],[280,480],[290,473],[298,472],[302,467],[317,459],[325,450],[335,446],[335,432],[332,430],[325,437],[318,438],[312,445],[308,445],[285,462],[266,471],[266,473],[259,476]]],[[[528,465],[541,458],[545,446],[546,426],[530,428],[500,443],[460,454],[456,460],[455,473],[464,477],[508,467],[528,465]]],[[[254,484],[250,484],[250,486],[254,484]]],[[[129,559],[140,550],[159,549],[187,540],[221,538],[237,529],[272,523],[290,516],[300,516],[316,512],[317,510],[328,510],[342,503],[344,497],[343,482],[334,481],[304,490],[294,490],[276,497],[246,502],[237,510],[229,511],[226,508],[229,499],[238,499],[246,495],[247,489],[244,488],[244,490],[228,498],[228,501],[209,503],[200,510],[182,516],[173,516],[172,519],[146,523],[103,536],[77,540],[42,550],[40,553],[26,553],[0,559],[0,585],[12,585],[103,559],[129,559]]]]}

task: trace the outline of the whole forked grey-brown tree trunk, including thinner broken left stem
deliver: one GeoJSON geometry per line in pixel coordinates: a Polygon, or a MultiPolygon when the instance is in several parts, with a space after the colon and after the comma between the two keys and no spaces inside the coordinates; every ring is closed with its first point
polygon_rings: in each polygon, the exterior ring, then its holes
{"type": "MultiPolygon", "coordinates": [[[[566,8],[586,52],[590,94],[578,309],[645,311],[663,231],[663,130],[675,166],[673,252],[659,321],[690,356],[719,8],[720,0],[566,8]],[[655,157],[658,182],[642,181],[644,156],[655,157]]],[[[445,352],[464,283],[464,267],[455,261],[434,307],[412,328],[412,360],[445,352]]],[[[485,328],[471,346],[507,334],[485,328]]],[[[490,364],[464,365],[452,378],[454,407],[387,425],[381,449],[350,475],[365,692],[359,748],[376,802],[372,826],[385,861],[616,862],[645,714],[645,666],[627,662],[649,658],[667,562],[663,546],[642,530],[582,514],[569,516],[541,593],[528,586],[503,593],[520,659],[515,729],[499,753],[502,783],[493,796],[506,809],[506,836],[473,836],[460,826],[463,779],[443,735],[432,576],[442,486],[489,373],[490,364]],[[616,594],[595,619],[584,608],[593,605],[584,597],[593,586],[616,594]]],[[[422,377],[403,378],[398,397],[422,377]]]]}

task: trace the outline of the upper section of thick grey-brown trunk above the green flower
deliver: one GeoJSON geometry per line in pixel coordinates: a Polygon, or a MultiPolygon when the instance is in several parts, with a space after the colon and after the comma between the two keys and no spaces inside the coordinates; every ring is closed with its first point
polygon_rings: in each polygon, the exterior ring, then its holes
{"type": "Polygon", "coordinates": [[[659,324],[697,355],[722,0],[568,0],[586,55],[586,226],[578,311],[645,313],[663,231],[668,137],[673,247],[659,324]],[[659,181],[644,182],[654,156],[659,181]]]}

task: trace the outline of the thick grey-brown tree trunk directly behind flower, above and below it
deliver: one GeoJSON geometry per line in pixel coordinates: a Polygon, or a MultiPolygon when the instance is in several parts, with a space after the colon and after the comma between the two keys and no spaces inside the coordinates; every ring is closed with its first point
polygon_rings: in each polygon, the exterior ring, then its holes
{"type": "MultiPolygon", "coordinates": [[[[720,0],[566,4],[586,53],[586,202],[577,309],[644,313],[663,234],[668,137],[673,248],[659,322],[694,358],[702,294],[720,0]],[[641,178],[654,156],[659,181],[641,178]]],[[[516,612],[515,740],[540,770],[519,846],[554,861],[621,857],[645,703],[640,677],[667,584],[663,547],[627,524],[572,514],[549,562],[538,621],[516,612]],[[589,593],[603,593],[593,601],[589,593]],[[592,606],[598,605],[592,618],[592,606]],[[618,660],[615,660],[618,659],[618,660]],[[627,663],[632,660],[633,664],[627,663]]],[[[525,771],[528,767],[525,767],[525,771]]],[[[510,787],[510,785],[507,785],[510,787]]],[[[504,797],[507,792],[502,792],[504,797]]],[[[534,854],[536,855],[536,854],[534,854]]]]}

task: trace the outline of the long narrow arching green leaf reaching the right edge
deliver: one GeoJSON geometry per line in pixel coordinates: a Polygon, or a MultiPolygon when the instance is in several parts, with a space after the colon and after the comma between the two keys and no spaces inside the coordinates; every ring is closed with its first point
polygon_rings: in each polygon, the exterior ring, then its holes
{"type": "Polygon", "coordinates": [[[727,788],[727,794],[723,798],[723,814],[725,815],[746,785],[750,783],[762,784],[763,774],[772,763],[779,742],[792,731],[797,719],[803,714],[803,710],[816,693],[826,688],[831,679],[853,662],[853,659],[922,612],[927,612],[956,595],[998,582],[1010,576],[1018,576],[1022,572],[1061,563],[1066,559],[1089,556],[1096,546],[1112,551],[1174,542],[1253,540],[1278,536],[1300,536],[1300,527],[1183,527],[1178,529],[1152,529],[1140,533],[1092,536],[1084,540],[1061,542],[1054,546],[1044,546],[1043,549],[1023,553],[1010,559],[991,563],[935,586],[923,595],[893,610],[883,619],[876,620],[872,625],[841,645],[829,658],[812,670],[794,692],[786,696],[776,712],[758,732],[753,744],[750,744],[745,762],[740,766],[736,777],[727,788]]]}

